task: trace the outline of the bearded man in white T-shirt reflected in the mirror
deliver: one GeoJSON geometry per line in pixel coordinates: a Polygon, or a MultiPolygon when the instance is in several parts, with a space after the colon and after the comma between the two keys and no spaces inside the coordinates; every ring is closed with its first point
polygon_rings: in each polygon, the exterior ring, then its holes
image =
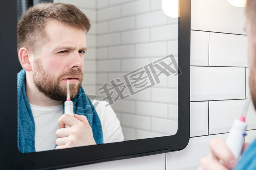
{"type": "Polygon", "coordinates": [[[113,109],[100,102],[95,110],[81,86],[89,29],[87,16],[69,4],[39,4],[19,20],[17,50],[23,70],[17,75],[18,148],[22,153],[123,140],[113,109]],[[67,79],[74,117],[63,114],[67,79]]]}

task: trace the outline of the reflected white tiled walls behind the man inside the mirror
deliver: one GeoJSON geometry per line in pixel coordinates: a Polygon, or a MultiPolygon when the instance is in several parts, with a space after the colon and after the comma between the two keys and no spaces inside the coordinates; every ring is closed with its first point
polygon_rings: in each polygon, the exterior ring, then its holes
{"type": "Polygon", "coordinates": [[[92,28],[87,33],[82,86],[85,93],[110,104],[124,140],[174,135],[178,119],[178,18],[164,14],[161,0],[109,1],[108,5],[54,2],[76,5],[89,17],[92,28]]]}

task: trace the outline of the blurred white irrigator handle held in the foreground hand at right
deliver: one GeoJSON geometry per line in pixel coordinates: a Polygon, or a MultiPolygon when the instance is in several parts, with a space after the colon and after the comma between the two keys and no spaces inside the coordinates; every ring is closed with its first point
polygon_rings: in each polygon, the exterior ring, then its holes
{"type": "Polygon", "coordinates": [[[247,123],[236,119],[226,139],[226,144],[228,148],[231,150],[232,154],[235,156],[237,160],[240,157],[243,148],[243,141],[246,135],[246,128],[247,123]]]}

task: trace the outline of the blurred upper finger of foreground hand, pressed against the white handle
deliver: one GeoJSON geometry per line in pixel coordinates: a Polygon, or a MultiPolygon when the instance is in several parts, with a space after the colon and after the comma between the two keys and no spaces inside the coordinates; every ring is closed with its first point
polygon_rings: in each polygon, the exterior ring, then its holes
{"type": "Polygon", "coordinates": [[[227,168],[234,168],[237,163],[235,156],[228,149],[226,143],[221,139],[212,139],[210,141],[210,149],[213,156],[223,161],[227,168]]]}

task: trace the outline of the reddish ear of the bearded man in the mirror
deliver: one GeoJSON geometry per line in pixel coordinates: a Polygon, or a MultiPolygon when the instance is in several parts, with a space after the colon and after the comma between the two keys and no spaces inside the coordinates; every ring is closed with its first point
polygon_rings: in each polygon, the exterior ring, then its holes
{"type": "Polygon", "coordinates": [[[20,48],[20,51],[19,51],[20,64],[26,71],[32,70],[30,60],[29,60],[30,57],[32,56],[28,48],[24,48],[24,47],[20,48]]]}

